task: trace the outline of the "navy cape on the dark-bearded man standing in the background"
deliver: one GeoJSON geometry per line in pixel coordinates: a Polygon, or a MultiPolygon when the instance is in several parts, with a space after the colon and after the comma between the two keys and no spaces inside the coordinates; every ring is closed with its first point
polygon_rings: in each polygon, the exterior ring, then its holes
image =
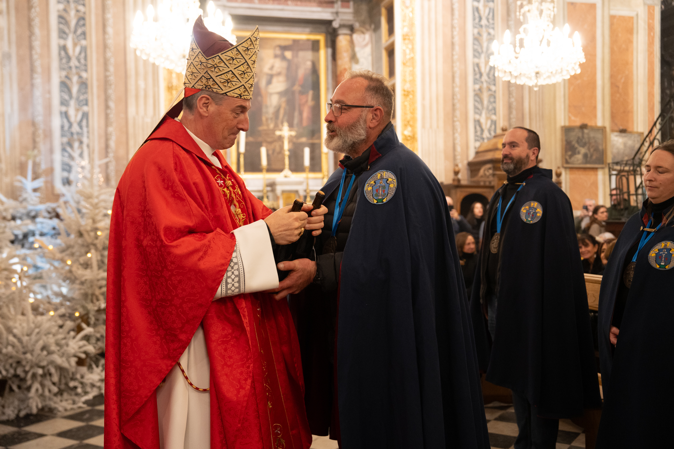
{"type": "Polygon", "coordinates": [[[487,330],[485,261],[492,211],[486,212],[485,237],[472,285],[470,311],[480,368],[493,384],[523,392],[548,418],[580,416],[601,406],[594,363],[585,280],[569,198],[551,170],[534,170],[510,206],[501,230],[496,335],[487,330]],[[525,203],[541,205],[541,218],[526,223],[525,203]]]}

